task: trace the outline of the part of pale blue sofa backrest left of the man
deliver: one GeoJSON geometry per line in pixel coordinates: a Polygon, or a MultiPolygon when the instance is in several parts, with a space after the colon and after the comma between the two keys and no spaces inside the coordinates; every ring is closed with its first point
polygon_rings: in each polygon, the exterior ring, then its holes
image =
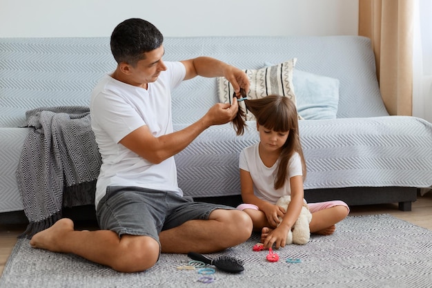
{"type": "Polygon", "coordinates": [[[114,69],[106,37],[0,39],[0,127],[21,126],[32,108],[88,106],[114,69]]]}

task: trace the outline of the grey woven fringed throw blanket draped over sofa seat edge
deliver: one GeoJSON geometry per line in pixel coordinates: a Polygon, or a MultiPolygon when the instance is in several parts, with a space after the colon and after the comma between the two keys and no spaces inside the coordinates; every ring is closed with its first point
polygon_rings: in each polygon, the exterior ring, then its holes
{"type": "Polygon", "coordinates": [[[30,128],[17,169],[31,238],[61,218],[62,207],[94,204],[101,155],[86,106],[37,108],[26,113],[30,128]]]}

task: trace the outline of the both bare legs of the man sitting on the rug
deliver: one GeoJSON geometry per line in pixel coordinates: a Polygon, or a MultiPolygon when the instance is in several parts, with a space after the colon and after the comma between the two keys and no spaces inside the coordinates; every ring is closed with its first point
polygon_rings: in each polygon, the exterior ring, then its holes
{"type": "MultiPolygon", "coordinates": [[[[191,220],[159,235],[165,253],[210,253],[233,247],[251,236],[246,213],[217,209],[209,220],[191,220]]],[[[75,231],[70,219],[61,219],[33,236],[34,248],[74,253],[121,272],[144,271],[159,258],[159,243],[147,236],[124,235],[109,230],[75,231]]]]}

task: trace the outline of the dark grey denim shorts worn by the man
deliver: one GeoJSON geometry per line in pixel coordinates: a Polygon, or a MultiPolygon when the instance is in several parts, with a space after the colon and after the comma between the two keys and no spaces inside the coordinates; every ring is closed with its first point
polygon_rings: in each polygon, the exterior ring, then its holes
{"type": "MultiPolygon", "coordinates": [[[[215,209],[234,207],[194,202],[173,192],[141,187],[108,186],[96,209],[100,229],[123,234],[150,236],[159,242],[161,231],[188,220],[207,220],[215,209]]],[[[159,243],[160,244],[160,243],[159,243]]]]}

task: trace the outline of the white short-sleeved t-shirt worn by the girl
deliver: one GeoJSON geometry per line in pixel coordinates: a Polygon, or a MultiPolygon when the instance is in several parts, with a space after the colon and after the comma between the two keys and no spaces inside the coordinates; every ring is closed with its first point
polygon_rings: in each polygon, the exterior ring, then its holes
{"type": "Polygon", "coordinates": [[[275,179],[279,160],[271,167],[267,167],[259,157],[259,142],[242,150],[239,156],[239,168],[251,173],[253,180],[253,192],[257,198],[273,204],[284,195],[291,195],[289,179],[303,175],[302,159],[298,153],[294,153],[288,161],[288,175],[284,186],[275,190],[275,179]]]}

